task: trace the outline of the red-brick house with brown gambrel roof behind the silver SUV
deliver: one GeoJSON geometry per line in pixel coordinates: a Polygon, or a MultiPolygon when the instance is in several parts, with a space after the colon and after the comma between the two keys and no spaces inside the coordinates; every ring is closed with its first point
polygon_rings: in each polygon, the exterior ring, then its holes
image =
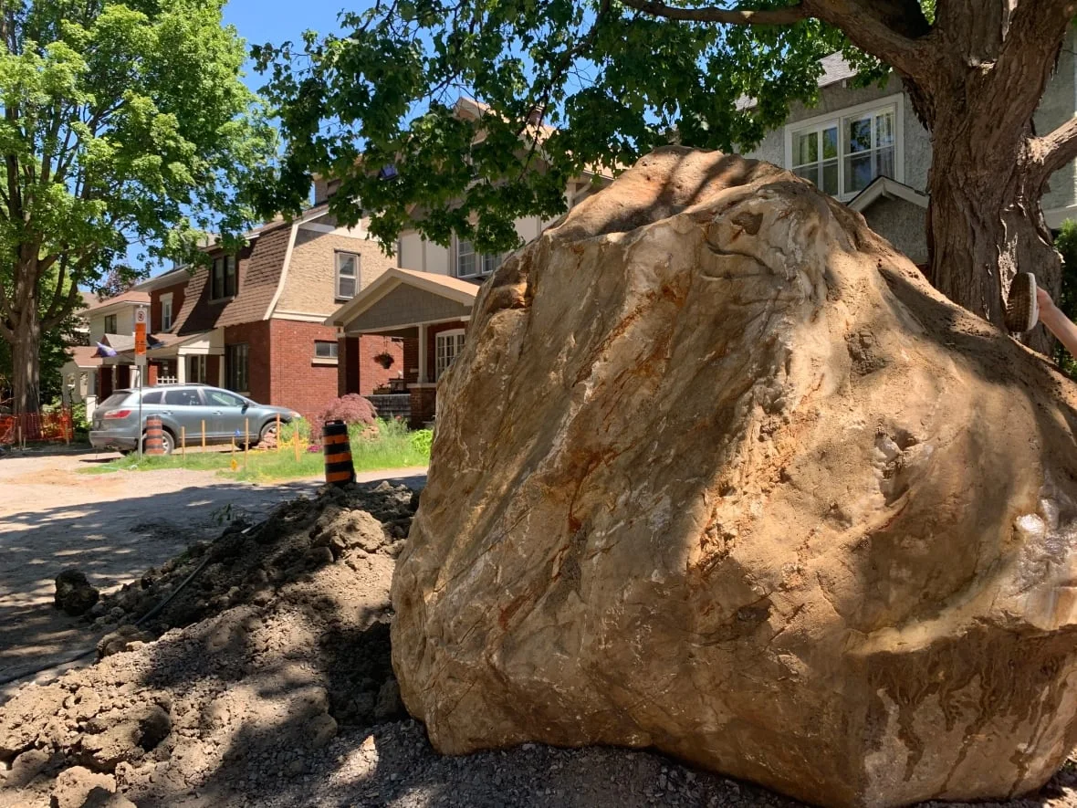
{"type": "MultiPolygon", "coordinates": [[[[316,415],[337,395],[337,335],[325,318],[394,260],[366,238],[362,225],[337,227],[324,205],[247,234],[236,254],[220,246],[206,251],[209,266],[173,269],[125,293],[139,295],[139,305],[150,310],[146,384],[205,382],[316,415]]],[[[132,329],[132,312],[129,319],[132,329]]],[[[127,319],[123,325],[118,345],[109,343],[116,356],[103,359],[102,398],[137,380],[127,319]]],[[[400,372],[401,342],[372,336],[363,347],[392,356],[400,372]]],[[[372,374],[367,385],[376,384],[372,374]]]]}

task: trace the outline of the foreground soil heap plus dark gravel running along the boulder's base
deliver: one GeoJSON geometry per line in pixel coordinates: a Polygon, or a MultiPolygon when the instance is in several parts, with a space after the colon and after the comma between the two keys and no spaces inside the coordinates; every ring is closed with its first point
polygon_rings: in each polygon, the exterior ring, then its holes
{"type": "MultiPolygon", "coordinates": [[[[0,707],[0,808],[797,805],[643,752],[435,754],[390,665],[414,505],[325,489],[104,597],[103,658],[0,707]]],[[[1075,780],[1011,805],[1077,806],[1075,780]]]]}

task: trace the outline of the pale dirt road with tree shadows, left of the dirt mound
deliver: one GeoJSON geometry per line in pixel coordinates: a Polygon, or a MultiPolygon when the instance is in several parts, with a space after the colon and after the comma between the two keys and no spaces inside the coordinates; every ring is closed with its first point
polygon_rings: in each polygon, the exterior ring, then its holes
{"type": "MultiPolygon", "coordinates": [[[[75,567],[104,590],[139,577],[230,521],[257,520],[320,482],[223,480],[212,471],[80,473],[117,457],[87,450],[0,456],[0,682],[87,642],[86,624],[51,608],[54,579],[75,567]]],[[[361,480],[424,469],[374,472],[361,480]]],[[[0,699],[10,687],[0,686],[0,699]]]]}

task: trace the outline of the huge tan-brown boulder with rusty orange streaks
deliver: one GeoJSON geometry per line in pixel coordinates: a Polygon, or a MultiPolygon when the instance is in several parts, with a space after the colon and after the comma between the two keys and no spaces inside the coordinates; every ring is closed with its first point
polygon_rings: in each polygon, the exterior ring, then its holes
{"type": "Polygon", "coordinates": [[[1077,396],[774,166],[666,149],[479,293],[393,665],[446,753],[655,747],[833,806],[1077,741],[1077,396]]]}

